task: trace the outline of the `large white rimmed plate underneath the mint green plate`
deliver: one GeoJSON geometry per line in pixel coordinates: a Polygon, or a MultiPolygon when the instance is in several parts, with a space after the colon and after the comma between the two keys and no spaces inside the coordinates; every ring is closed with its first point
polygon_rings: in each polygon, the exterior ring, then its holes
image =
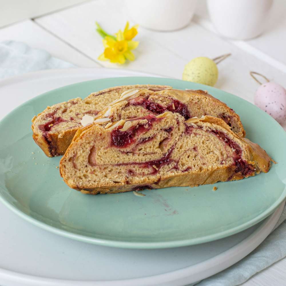
{"type": "MultiPolygon", "coordinates": [[[[9,94],[0,118],[48,90],[84,80],[150,76],[119,69],[67,69],[25,74],[0,82],[9,94]]],[[[0,174],[1,175],[1,174],[0,174]]],[[[39,229],[0,204],[0,283],[18,285],[186,285],[236,263],[273,229],[284,203],[263,222],[241,233],[202,245],[132,250],[101,247],[39,229]],[[123,280],[122,280],[123,279],[123,280]]]]}

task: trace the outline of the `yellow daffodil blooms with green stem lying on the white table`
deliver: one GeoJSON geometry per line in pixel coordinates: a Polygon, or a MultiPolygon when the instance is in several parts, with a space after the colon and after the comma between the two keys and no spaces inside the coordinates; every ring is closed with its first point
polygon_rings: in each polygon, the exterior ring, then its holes
{"type": "Polygon", "coordinates": [[[102,28],[97,24],[97,31],[104,37],[103,45],[104,52],[98,57],[101,61],[110,60],[111,63],[125,63],[126,59],[134,61],[135,56],[131,50],[136,49],[139,42],[132,41],[137,34],[137,25],[129,29],[129,23],[126,23],[125,29],[116,33],[116,37],[108,35],[102,28]]]}

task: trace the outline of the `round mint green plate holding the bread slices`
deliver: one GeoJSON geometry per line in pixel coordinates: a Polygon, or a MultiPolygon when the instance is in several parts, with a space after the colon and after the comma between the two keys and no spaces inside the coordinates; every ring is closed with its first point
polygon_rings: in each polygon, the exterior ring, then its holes
{"type": "Polygon", "coordinates": [[[0,122],[0,199],[18,215],[53,233],[124,248],[167,248],[233,235],[270,215],[286,197],[286,133],[269,115],[227,92],[181,80],[106,78],[59,88],[22,104],[0,122]],[[60,157],[48,158],[33,142],[31,118],[48,105],[126,84],[202,89],[231,106],[247,138],[278,162],[269,173],[197,188],[173,187],[110,195],[84,195],[61,179],[60,157]]]}

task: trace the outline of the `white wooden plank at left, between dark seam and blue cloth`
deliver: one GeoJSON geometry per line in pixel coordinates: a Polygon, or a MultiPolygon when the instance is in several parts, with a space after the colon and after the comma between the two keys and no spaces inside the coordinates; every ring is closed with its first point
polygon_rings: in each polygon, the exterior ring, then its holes
{"type": "Polygon", "coordinates": [[[48,51],[54,57],[71,62],[79,67],[100,67],[83,53],[45,31],[31,20],[26,20],[0,29],[0,42],[14,40],[48,51]]]}

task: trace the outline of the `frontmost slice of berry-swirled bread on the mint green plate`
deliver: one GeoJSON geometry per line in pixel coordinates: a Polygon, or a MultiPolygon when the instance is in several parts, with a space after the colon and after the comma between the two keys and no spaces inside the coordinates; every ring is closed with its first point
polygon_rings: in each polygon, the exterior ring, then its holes
{"type": "Polygon", "coordinates": [[[271,158],[219,118],[164,112],[78,130],[60,161],[83,193],[198,186],[268,172],[271,158]]]}

